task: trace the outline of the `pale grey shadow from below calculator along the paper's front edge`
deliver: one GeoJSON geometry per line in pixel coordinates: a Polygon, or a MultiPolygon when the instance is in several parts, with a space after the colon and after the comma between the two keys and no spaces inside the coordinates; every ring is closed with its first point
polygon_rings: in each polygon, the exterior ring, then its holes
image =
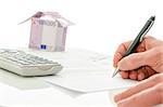
{"type": "Polygon", "coordinates": [[[51,83],[47,83],[43,80],[36,79],[35,77],[21,77],[18,75],[15,75],[13,72],[10,72],[4,69],[0,69],[0,82],[16,88],[18,90],[39,90],[39,89],[46,89],[46,88],[54,88],[71,97],[77,97],[83,95],[84,93],[72,91],[65,88],[62,88],[60,85],[54,85],[51,83]]]}

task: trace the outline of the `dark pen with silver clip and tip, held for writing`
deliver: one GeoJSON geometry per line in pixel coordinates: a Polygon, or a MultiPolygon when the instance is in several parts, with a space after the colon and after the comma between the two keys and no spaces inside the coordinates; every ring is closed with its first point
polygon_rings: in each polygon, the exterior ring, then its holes
{"type": "MultiPolygon", "coordinates": [[[[151,16],[147,23],[145,24],[145,26],[142,27],[142,29],[140,30],[140,32],[138,34],[138,36],[135,38],[135,40],[133,41],[133,43],[130,44],[129,49],[126,51],[125,56],[131,54],[135,52],[136,48],[139,45],[139,43],[142,41],[143,37],[147,35],[147,32],[150,30],[150,28],[152,27],[153,23],[154,23],[155,16],[151,16]]],[[[120,71],[118,67],[114,70],[114,73],[112,76],[112,78],[120,71]]]]}

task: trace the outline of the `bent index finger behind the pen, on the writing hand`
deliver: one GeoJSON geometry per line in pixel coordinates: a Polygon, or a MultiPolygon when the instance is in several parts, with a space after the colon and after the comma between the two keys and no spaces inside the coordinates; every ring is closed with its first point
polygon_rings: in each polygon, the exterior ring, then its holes
{"type": "Polygon", "coordinates": [[[124,43],[121,43],[115,51],[114,58],[113,58],[113,66],[116,67],[120,59],[124,56],[125,52],[129,48],[131,41],[127,41],[124,43]]]}

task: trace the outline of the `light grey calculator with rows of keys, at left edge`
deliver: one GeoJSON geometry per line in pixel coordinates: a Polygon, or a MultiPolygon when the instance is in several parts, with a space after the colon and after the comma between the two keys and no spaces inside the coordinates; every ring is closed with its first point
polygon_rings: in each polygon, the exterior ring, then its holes
{"type": "Polygon", "coordinates": [[[24,51],[0,49],[0,68],[20,76],[32,77],[55,75],[63,66],[24,51]]]}

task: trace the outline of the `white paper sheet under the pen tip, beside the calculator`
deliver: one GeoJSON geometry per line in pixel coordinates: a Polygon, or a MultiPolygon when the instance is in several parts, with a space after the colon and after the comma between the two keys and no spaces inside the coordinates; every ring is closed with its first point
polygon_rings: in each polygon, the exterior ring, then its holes
{"type": "Polygon", "coordinates": [[[98,92],[128,88],[137,81],[124,80],[115,76],[112,56],[85,50],[67,50],[62,53],[35,52],[63,65],[57,76],[38,77],[48,83],[78,92],[98,92]]]}

